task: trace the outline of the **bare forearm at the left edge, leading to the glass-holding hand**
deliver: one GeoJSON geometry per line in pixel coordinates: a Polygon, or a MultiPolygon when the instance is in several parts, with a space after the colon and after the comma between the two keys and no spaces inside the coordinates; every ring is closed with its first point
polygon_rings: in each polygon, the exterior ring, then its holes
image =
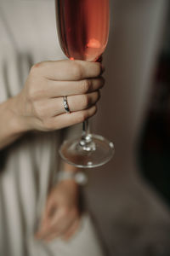
{"type": "Polygon", "coordinates": [[[0,150],[14,143],[26,132],[26,127],[17,114],[16,98],[0,104],[0,150]]]}

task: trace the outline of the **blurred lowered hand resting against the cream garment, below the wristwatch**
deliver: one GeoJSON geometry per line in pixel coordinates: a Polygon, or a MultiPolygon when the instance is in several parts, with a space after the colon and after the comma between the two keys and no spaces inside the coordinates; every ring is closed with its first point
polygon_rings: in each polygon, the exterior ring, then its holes
{"type": "Polygon", "coordinates": [[[48,195],[36,237],[45,241],[59,236],[65,240],[71,238],[80,223],[78,200],[77,183],[65,180],[57,184],[48,195]]]}

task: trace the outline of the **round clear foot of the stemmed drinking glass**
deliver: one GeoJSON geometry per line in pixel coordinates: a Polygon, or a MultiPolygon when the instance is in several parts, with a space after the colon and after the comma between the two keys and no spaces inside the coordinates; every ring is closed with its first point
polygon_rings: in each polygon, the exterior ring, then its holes
{"type": "Polygon", "coordinates": [[[115,148],[114,144],[105,137],[90,134],[88,135],[89,147],[83,147],[81,138],[65,141],[59,154],[65,162],[79,168],[94,168],[103,166],[111,160],[115,148]]]}

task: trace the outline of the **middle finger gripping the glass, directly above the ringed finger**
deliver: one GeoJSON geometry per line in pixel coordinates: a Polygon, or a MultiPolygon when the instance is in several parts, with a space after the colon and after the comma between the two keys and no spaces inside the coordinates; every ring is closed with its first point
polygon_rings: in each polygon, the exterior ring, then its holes
{"type": "Polygon", "coordinates": [[[101,89],[105,79],[82,79],[80,81],[47,81],[44,90],[48,97],[82,95],[101,89]]]}

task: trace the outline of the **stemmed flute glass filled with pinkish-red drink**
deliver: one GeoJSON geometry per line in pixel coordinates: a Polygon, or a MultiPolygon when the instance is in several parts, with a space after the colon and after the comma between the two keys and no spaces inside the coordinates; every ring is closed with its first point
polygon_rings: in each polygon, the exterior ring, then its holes
{"type": "MultiPolygon", "coordinates": [[[[55,0],[59,44],[70,60],[98,61],[109,36],[109,0],[55,0]]],[[[114,154],[114,145],[105,137],[91,134],[88,120],[82,137],[65,141],[59,154],[67,163],[92,168],[102,166],[114,154]]]]}

